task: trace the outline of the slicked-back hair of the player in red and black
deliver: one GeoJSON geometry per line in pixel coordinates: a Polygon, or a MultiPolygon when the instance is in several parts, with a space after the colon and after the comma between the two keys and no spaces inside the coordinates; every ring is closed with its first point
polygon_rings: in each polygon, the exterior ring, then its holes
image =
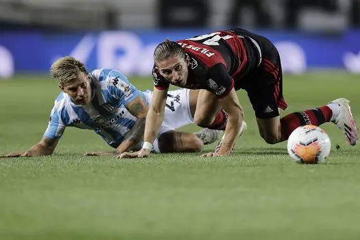
{"type": "Polygon", "coordinates": [[[169,39],[166,39],[163,43],[160,43],[156,46],[154,50],[154,62],[160,62],[170,57],[179,56],[180,58],[186,58],[187,53],[185,53],[182,47],[169,39]]]}

